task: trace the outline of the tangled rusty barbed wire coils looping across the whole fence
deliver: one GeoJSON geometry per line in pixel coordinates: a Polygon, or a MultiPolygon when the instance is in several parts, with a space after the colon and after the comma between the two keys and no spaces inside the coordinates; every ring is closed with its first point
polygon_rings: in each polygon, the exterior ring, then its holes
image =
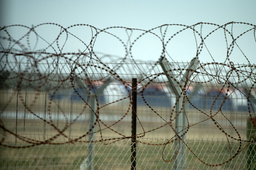
{"type": "MultiPolygon", "coordinates": [[[[1,79],[1,86],[2,88],[9,88],[13,89],[12,95],[9,99],[5,99],[5,103],[3,106],[1,106],[0,116],[4,113],[5,110],[7,110],[8,105],[11,103],[11,101],[15,98],[15,95],[17,94],[19,96],[19,100],[22,102],[22,105],[24,108],[26,108],[27,111],[29,111],[30,114],[37,117],[37,119],[40,119],[42,122],[45,122],[49,124],[49,126],[53,127],[58,133],[54,136],[50,137],[49,139],[45,140],[36,140],[32,139],[31,137],[23,136],[22,134],[17,134],[14,131],[10,130],[8,127],[6,127],[6,124],[2,119],[0,119],[0,127],[1,129],[6,132],[3,136],[1,136],[0,145],[5,147],[11,147],[11,148],[27,148],[27,147],[33,147],[37,145],[42,144],[65,144],[65,143],[92,143],[92,142],[104,142],[105,144],[114,143],[118,140],[124,140],[124,139],[130,139],[132,136],[126,136],[122,134],[121,132],[115,130],[112,128],[115,124],[122,121],[125,117],[128,116],[129,111],[132,110],[132,99],[131,99],[131,82],[129,80],[124,79],[121,75],[117,73],[117,70],[120,69],[125,63],[131,63],[135,64],[132,68],[134,73],[139,73],[141,77],[139,78],[138,84],[142,84],[137,89],[137,93],[141,94],[142,100],[144,103],[149,107],[150,110],[152,110],[158,117],[160,117],[161,120],[164,121],[164,124],[162,124],[159,127],[156,127],[151,130],[144,130],[142,123],[140,122],[140,118],[137,116],[137,120],[140,123],[141,128],[143,129],[143,133],[139,133],[136,135],[137,142],[141,144],[146,145],[163,145],[163,153],[165,150],[165,147],[174,142],[178,141],[178,144],[180,146],[181,143],[183,143],[188,150],[203,164],[206,164],[207,166],[220,166],[222,164],[228,163],[234,157],[236,157],[245,147],[249,146],[250,143],[255,141],[255,138],[253,140],[243,140],[239,134],[239,131],[237,128],[232,124],[232,122],[224,116],[222,111],[222,106],[226,102],[229,96],[231,96],[232,93],[234,93],[234,90],[239,91],[243,94],[243,96],[247,99],[247,106],[248,106],[248,113],[250,119],[253,119],[255,117],[255,111],[253,107],[253,103],[251,103],[251,92],[255,91],[255,83],[256,83],[256,66],[254,64],[251,64],[248,57],[245,55],[245,53],[242,51],[242,49],[239,47],[237,40],[239,40],[242,36],[244,36],[246,33],[252,32],[253,39],[256,41],[255,36],[255,29],[256,26],[254,24],[250,23],[243,23],[243,22],[230,22],[226,23],[224,25],[218,25],[213,23],[197,23],[192,26],[187,26],[183,24],[164,24],[162,26],[158,26],[155,28],[152,28],[150,30],[142,30],[142,29],[131,29],[127,27],[107,27],[105,29],[98,29],[96,27],[93,27],[88,24],[75,24],[69,27],[63,27],[56,23],[44,23],[39,24],[36,26],[27,27],[24,25],[11,25],[11,26],[4,26],[0,28],[0,53],[1,53],[1,63],[0,63],[0,79],[1,79]],[[234,26],[242,26],[245,28],[248,26],[245,31],[238,34],[238,36],[235,36],[233,34],[233,27],[234,26]],[[43,26],[50,26],[50,27],[58,27],[59,33],[56,35],[56,38],[54,38],[53,41],[46,41],[46,37],[41,36],[36,30],[40,29],[40,27],[43,26]],[[181,27],[177,32],[174,34],[171,34],[168,36],[168,30],[172,29],[173,27],[181,27]],[[204,26],[212,26],[213,29],[209,31],[206,36],[203,36],[202,34],[202,28],[204,26]],[[228,29],[227,27],[230,27],[231,29],[228,29]],[[72,33],[71,29],[76,27],[82,27],[82,28],[89,28],[91,33],[91,38],[87,41],[83,41],[83,37],[75,36],[74,33],[72,33]],[[199,29],[198,29],[199,27],[199,29]],[[11,31],[13,28],[21,30],[25,29],[25,33],[20,36],[18,39],[15,39],[12,35],[11,31]],[[115,29],[122,29],[127,34],[127,40],[123,40],[121,37],[116,36],[114,33],[111,33],[111,31],[115,31],[115,29]],[[174,61],[174,59],[171,57],[171,54],[167,51],[167,45],[170,43],[171,40],[181,32],[185,30],[192,31],[193,36],[195,37],[196,41],[196,55],[194,57],[198,60],[198,67],[196,69],[191,68],[181,68],[180,65],[174,61]],[[134,32],[137,31],[139,35],[132,40],[132,35],[134,32]],[[209,49],[207,49],[206,46],[206,40],[210,37],[211,34],[217,32],[217,31],[223,31],[223,36],[226,41],[227,46],[227,52],[226,52],[226,59],[224,59],[223,63],[216,62],[214,60],[214,57],[211,55],[209,49]],[[99,53],[94,51],[94,45],[97,42],[96,39],[98,36],[100,36],[102,33],[108,34],[115,39],[119,41],[119,43],[122,44],[124,47],[125,54],[123,57],[119,56],[113,56],[109,54],[99,53]],[[132,48],[135,46],[137,41],[141,39],[141,37],[145,36],[146,34],[150,34],[155,36],[161,41],[162,51],[160,56],[158,57],[166,57],[169,60],[171,60],[171,69],[167,71],[162,71],[160,73],[152,74],[152,70],[159,64],[159,61],[155,62],[152,67],[148,68],[148,70],[144,70],[141,67],[138,66],[138,60],[134,59],[134,56],[132,54],[132,48]],[[35,37],[35,44],[32,48],[32,43],[30,38],[34,36],[35,37]],[[65,38],[63,38],[65,37],[65,38]],[[66,45],[70,38],[75,38],[80,43],[83,44],[84,49],[79,50],[78,52],[63,52],[63,49],[65,49],[66,45]],[[37,49],[39,46],[39,43],[44,42],[46,44],[46,47],[43,49],[37,49]],[[87,43],[89,42],[89,43],[87,43]],[[200,42],[200,43],[199,43],[200,42]],[[63,45],[61,46],[60,44],[63,45]],[[237,66],[233,63],[233,61],[230,59],[230,55],[232,54],[232,51],[234,47],[237,47],[241,53],[243,54],[244,59],[248,64],[244,64],[243,66],[237,66]],[[202,52],[203,48],[206,48],[209,52],[212,62],[208,63],[201,63],[200,62],[200,53],[202,52]],[[110,63],[112,63],[111,67],[109,64],[106,64],[105,59],[108,59],[110,63]],[[64,66],[63,66],[64,65],[64,66]],[[215,68],[215,73],[213,74],[211,71],[207,71],[206,67],[215,68]],[[136,71],[137,72],[136,72],[136,71]],[[184,75],[186,77],[186,80],[181,79],[181,75],[184,74],[184,72],[187,71],[190,74],[184,75]],[[226,73],[226,75],[220,75],[220,73],[223,73],[223,71],[226,73]],[[177,72],[179,75],[174,76],[173,74],[170,74],[171,72],[177,72]],[[91,74],[96,74],[98,77],[92,77],[91,74]],[[150,74],[150,75],[149,75],[150,74]],[[33,76],[34,75],[34,76],[33,76]],[[36,76],[35,76],[36,75],[36,76]],[[53,76],[56,75],[56,76],[53,76]],[[148,76],[149,75],[149,76],[148,76]],[[192,76],[195,75],[195,76],[192,76]],[[209,80],[200,81],[196,79],[198,75],[207,76],[209,77],[209,80]],[[237,77],[237,80],[231,80],[234,75],[237,77]],[[177,96],[176,102],[173,106],[173,109],[170,113],[170,119],[165,120],[161,115],[153,109],[152,106],[147,102],[147,100],[144,97],[144,91],[147,89],[148,86],[150,86],[152,83],[167,83],[167,81],[159,81],[157,80],[160,76],[167,76],[170,77],[173,81],[175,81],[178,84],[178,87],[181,89],[182,93],[177,96]],[[127,90],[128,95],[125,96],[122,99],[112,101],[111,103],[107,103],[103,106],[99,106],[98,101],[98,93],[95,91],[95,82],[101,81],[102,83],[108,81],[108,80],[117,80],[121,82],[122,86],[127,90]],[[8,81],[15,81],[16,83],[7,83],[8,81]],[[192,84],[206,84],[211,82],[217,82],[220,84],[221,88],[219,89],[219,93],[217,94],[216,98],[214,99],[213,103],[211,104],[210,112],[209,114],[205,111],[197,108],[193,102],[190,101],[190,99],[187,96],[187,91],[190,86],[193,86],[192,84]],[[244,82],[250,82],[250,86],[247,84],[247,88],[249,89],[249,93],[244,93],[242,90],[239,89],[239,87],[242,86],[242,83],[244,82]],[[87,98],[84,97],[83,94],[81,94],[81,91],[78,90],[78,84],[87,84],[88,88],[88,94],[87,98]],[[34,84],[31,86],[31,84],[34,84]],[[35,85],[36,84],[36,85],[35,85]],[[68,84],[68,85],[67,85],[68,84]],[[82,111],[73,119],[72,121],[68,121],[66,118],[65,120],[65,126],[60,129],[58,126],[56,126],[55,122],[52,120],[52,106],[55,104],[59,110],[62,110],[62,107],[55,102],[54,96],[58,94],[59,90],[65,89],[72,89],[75,91],[75,94],[79,96],[79,99],[85,103],[85,105],[82,108],[82,111]],[[24,94],[22,94],[22,90],[26,88],[32,88],[36,91],[35,98],[31,102],[30,106],[26,103],[26,100],[24,100],[24,94]],[[49,102],[47,103],[47,114],[49,115],[49,120],[45,119],[44,117],[36,114],[33,111],[33,106],[35,106],[36,100],[39,98],[40,93],[45,93],[45,91],[50,92],[50,98],[49,102]],[[221,93],[225,91],[224,99],[222,100],[221,106],[218,108],[218,110],[215,112],[213,110],[214,103],[216,103],[219,96],[221,96],[221,93]],[[92,106],[90,105],[90,97],[94,96],[96,99],[96,109],[94,110],[92,106]],[[107,124],[99,117],[99,112],[102,108],[118,103],[122,100],[128,99],[128,109],[122,114],[122,116],[115,121],[112,124],[107,124]],[[182,106],[178,114],[175,115],[175,107],[177,107],[177,103],[179,100],[182,100],[182,106]],[[187,110],[184,107],[185,103],[188,103],[188,105],[191,105],[194,109],[198,110],[201,114],[205,115],[207,119],[201,120],[200,122],[190,124],[188,118],[187,118],[187,126],[182,131],[176,131],[175,127],[173,126],[173,122],[175,119],[177,119],[178,116],[182,112],[187,117],[187,110]],[[76,137],[75,139],[70,138],[68,135],[66,135],[64,132],[76,122],[76,120],[79,119],[79,117],[82,116],[85,109],[92,110],[95,114],[96,120],[93,123],[93,126],[89,128],[88,131],[81,134],[81,136],[76,137]],[[224,128],[218,123],[217,120],[214,119],[217,114],[222,114],[227,121],[229,121],[230,125],[232,126],[233,130],[236,132],[238,137],[231,136],[228,134],[224,128]],[[230,158],[220,164],[209,164],[204,162],[201,158],[199,158],[196,153],[186,144],[186,142],[183,140],[183,136],[185,136],[190,127],[196,126],[198,123],[202,123],[204,121],[211,120],[215,124],[215,126],[220,130],[221,133],[223,133],[227,139],[233,139],[239,141],[239,147],[236,150],[236,153],[233,155],[230,151],[230,158]],[[99,130],[95,130],[95,127],[98,126],[99,130]],[[146,137],[147,133],[152,132],[154,130],[161,129],[162,127],[169,126],[170,129],[173,130],[175,133],[174,136],[170,137],[170,140],[163,144],[154,144],[150,142],[143,142],[140,140],[142,137],[146,137]],[[102,131],[105,129],[109,129],[113,131],[116,134],[119,134],[122,137],[115,137],[115,138],[104,138],[102,135],[102,131]],[[95,130],[95,131],[94,131],[95,130]],[[84,137],[89,136],[92,133],[100,133],[100,140],[97,141],[89,141],[89,140],[83,140],[84,137]],[[180,134],[182,132],[182,134],[180,134]],[[7,136],[15,136],[18,139],[28,143],[27,145],[22,146],[13,146],[6,144],[6,138],[7,136]],[[65,142],[56,142],[55,140],[58,137],[65,137],[68,139],[68,141],[65,142]],[[247,142],[247,145],[242,148],[242,142],[247,142]]],[[[23,30],[24,31],[24,30],[23,30]]],[[[47,30],[50,31],[50,30],[47,30]]],[[[41,46],[40,46],[41,47],[41,46]]],[[[185,49],[184,49],[185,50],[185,49]]],[[[145,60],[144,60],[145,61],[145,60]]],[[[62,110],[62,113],[65,111],[62,110]]],[[[255,126],[255,125],[254,125],[255,126]]],[[[256,128],[256,126],[254,127],[256,128]]],[[[230,143],[229,143],[230,146],[230,143]]],[[[174,155],[174,157],[170,160],[166,160],[164,158],[164,154],[162,154],[162,158],[164,161],[172,161],[175,159],[178,153],[174,155]]]]}

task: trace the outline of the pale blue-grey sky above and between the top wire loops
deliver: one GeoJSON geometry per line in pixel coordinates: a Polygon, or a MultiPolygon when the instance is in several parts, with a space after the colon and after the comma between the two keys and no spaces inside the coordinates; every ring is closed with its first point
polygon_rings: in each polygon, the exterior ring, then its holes
{"type": "MultiPolygon", "coordinates": [[[[221,25],[230,21],[242,21],[256,24],[255,0],[0,0],[0,2],[1,27],[12,24],[32,26],[32,24],[51,22],[64,27],[72,24],[89,24],[99,29],[110,26],[124,26],[149,30],[163,24],[192,25],[198,22],[221,25]]],[[[205,35],[215,28],[207,27],[204,30],[205,35]]],[[[237,34],[236,36],[238,36],[243,32],[242,30],[250,28],[252,27],[234,26],[233,29],[234,33],[237,34]]],[[[112,31],[112,33],[115,33],[115,31],[112,31]]],[[[120,34],[125,35],[125,31],[117,30],[116,33],[118,36],[120,34]]],[[[134,34],[139,35],[140,33],[136,34],[134,32],[134,34]]],[[[220,62],[226,57],[225,49],[227,49],[223,35],[222,30],[221,33],[214,34],[207,41],[207,47],[209,47],[211,55],[220,62]]],[[[168,54],[175,61],[190,61],[196,54],[196,44],[193,36],[193,31],[190,31],[174,39],[170,43],[168,54]]],[[[122,45],[112,43],[110,40],[106,41],[106,39],[108,38],[104,35],[102,38],[99,37],[98,46],[96,44],[95,50],[119,56],[124,55],[122,45]]],[[[242,50],[249,60],[255,63],[256,44],[253,31],[246,34],[238,43],[240,43],[239,46],[243,48],[242,50]]],[[[70,46],[67,50],[77,51],[78,48],[70,46]]],[[[154,36],[145,36],[144,39],[142,38],[134,45],[132,53],[135,59],[155,61],[161,54],[161,42],[156,40],[154,36]]],[[[234,50],[234,53],[232,61],[234,63],[241,62],[239,50],[234,50]]],[[[210,56],[206,51],[203,51],[202,55],[210,56]]],[[[200,56],[201,61],[211,61],[206,56],[200,56]]],[[[242,61],[246,62],[245,60],[242,61]]]]}

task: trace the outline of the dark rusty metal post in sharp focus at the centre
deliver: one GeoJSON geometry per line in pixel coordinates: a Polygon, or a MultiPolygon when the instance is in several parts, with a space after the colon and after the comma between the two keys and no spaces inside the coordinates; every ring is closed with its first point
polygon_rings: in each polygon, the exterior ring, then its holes
{"type": "Polygon", "coordinates": [[[132,79],[132,157],[131,170],[136,169],[136,113],[137,113],[137,79],[132,79]]]}

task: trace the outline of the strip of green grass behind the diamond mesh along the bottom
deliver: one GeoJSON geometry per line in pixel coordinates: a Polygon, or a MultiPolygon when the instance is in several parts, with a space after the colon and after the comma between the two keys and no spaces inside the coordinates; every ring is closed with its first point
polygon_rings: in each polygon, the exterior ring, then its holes
{"type": "MultiPolygon", "coordinates": [[[[148,140],[148,139],[147,139],[148,140]]],[[[146,141],[147,141],[146,140],[146,141]]],[[[163,143],[164,140],[150,139],[152,143],[163,143]]],[[[228,160],[229,144],[221,141],[186,141],[191,150],[200,159],[209,164],[218,164],[228,160]]],[[[94,169],[130,169],[131,145],[129,140],[112,144],[101,142],[94,145],[94,169]]],[[[137,144],[137,169],[173,169],[174,161],[164,162],[161,158],[163,146],[137,144]]],[[[239,143],[231,143],[231,154],[234,155],[239,143]]],[[[245,144],[242,145],[244,147],[245,144]]],[[[42,145],[25,149],[0,147],[1,169],[79,169],[88,156],[88,144],[42,145]]],[[[164,159],[171,159],[174,144],[168,144],[164,159]]],[[[192,153],[186,150],[185,164],[187,169],[246,169],[246,149],[232,161],[220,167],[208,167],[201,163],[192,153]]],[[[254,165],[255,162],[254,162],[254,165]]]]}

